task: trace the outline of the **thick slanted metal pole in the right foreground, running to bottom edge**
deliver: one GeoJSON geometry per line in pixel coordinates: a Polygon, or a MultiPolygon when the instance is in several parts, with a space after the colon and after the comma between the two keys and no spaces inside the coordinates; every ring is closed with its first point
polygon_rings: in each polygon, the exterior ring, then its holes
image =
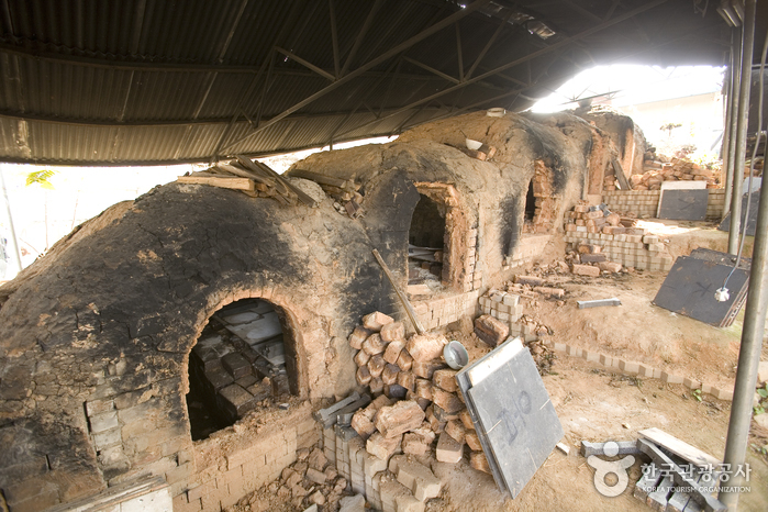
{"type": "MultiPolygon", "coordinates": [[[[766,263],[768,263],[768,187],[763,187],[755,229],[755,247],[752,254],[749,292],[744,311],[742,345],[738,350],[738,369],[733,389],[733,404],[731,405],[728,435],[725,441],[725,457],[723,458],[723,463],[730,464],[733,471],[727,482],[728,488],[748,485],[744,482],[744,477],[737,477],[735,471],[744,464],[749,438],[752,401],[757,385],[757,369],[760,364],[766,309],[768,308],[766,263]]],[[[738,492],[721,491],[717,498],[728,507],[728,510],[736,510],[738,492]]]]}

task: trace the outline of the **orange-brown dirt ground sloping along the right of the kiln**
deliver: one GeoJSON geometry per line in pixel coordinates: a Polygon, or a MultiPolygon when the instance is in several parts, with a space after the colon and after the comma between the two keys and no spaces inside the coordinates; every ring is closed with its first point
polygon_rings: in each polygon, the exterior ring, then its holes
{"type": "MultiPolygon", "coordinates": [[[[724,234],[712,233],[711,226],[701,233],[698,229],[680,232],[679,226],[659,223],[657,230],[670,237],[669,244],[678,253],[676,256],[689,254],[698,246],[724,249],[724,234]]],[[[747,254],[749,252],[750,247],[747,254]]],[[[524,299],[524,311],[530,319],[550,329],[547,342],[568,343],[646,363],[670,374],[732,389],[743,312],[733,326],[717,329],[657,308],[650,301],[665,276],[665,272],[631,271],[612,277],[579,278],[549,272],[547,283],[564,288],[566,297],[561,301],[542,297],[524,299]],[[611,297],[619,298],[622,305],[587,310],[576,305],[577,300],[611,297]]],[[[449,334],[467,346],[470,360],[490,350],[470,334],[449,334]]],[[[491,476],[470,468],[466,459],[448,465],[424,458],[422,463],[431,466],[444,482],[441,496],[427,502],[427,511],[650,510],[632,496],[641,466],[647,461],[644,456],[635,457],[630,468],[628,488],[616,498],[605,498],[593,485],[594,469],[579,454],[582,439],[634,441],[638,431],[649,427],[661,428],[722,459],[730,402],[708,394],[698,400],[681,385],[614,372],[564,353],[555,353],[555,356],[550,374],[543,380],[565,431],[563,442],[570,447],[570,453],[553,450],[514,500],[505,498],[491,476]]],[[[765,345],[763,359],[768,360],[765,345]]],[[[750,443],[758,446],[768,443],[768,432],[754,422],[750,443]]],[[[748,449],[747,463],[752,468],[750,491],[741,496],[738,510],[768,510],[768,458],[748,449]]],[[[280,501],[268,488],[254,494],[251,503],[237,510],[303,510],[280,501]]]]}

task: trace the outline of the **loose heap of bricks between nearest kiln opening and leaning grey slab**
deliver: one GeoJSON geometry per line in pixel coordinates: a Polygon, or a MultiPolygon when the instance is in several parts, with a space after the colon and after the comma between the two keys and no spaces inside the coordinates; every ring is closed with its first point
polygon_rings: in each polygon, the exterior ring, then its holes
{"type": "Polygon", "coordinates": [[[400,452],[424,455],[436,439],[437,460],[456,464],[466,443],[472,467],[487,469],[456,370],[441,358],[446,343],[439,334],[405,338],[402,323],[379,312],[365,316],[349,335],[359,350],[357,381],[377,397],[352,419],[369,454],[382,460],[400,452]]]}

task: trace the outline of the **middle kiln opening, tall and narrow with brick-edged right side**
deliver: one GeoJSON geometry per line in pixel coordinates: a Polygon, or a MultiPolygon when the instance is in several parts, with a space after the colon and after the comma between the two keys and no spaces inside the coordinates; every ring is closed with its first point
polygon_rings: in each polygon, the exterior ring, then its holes
{"type": "Polygon", "coordinates": [[[420,193],[408,233],[409,285],[439,282],[445,254],[446,205],[420,193]]]}

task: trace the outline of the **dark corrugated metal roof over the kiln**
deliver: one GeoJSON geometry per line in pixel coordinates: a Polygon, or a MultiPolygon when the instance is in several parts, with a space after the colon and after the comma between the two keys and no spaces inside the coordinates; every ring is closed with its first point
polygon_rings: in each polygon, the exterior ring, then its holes
{"type": "Polygon", "coordinates": [[[450,112],[527,105],[516,92],[541,96],[593,63],[720,65],[728,40],[713,9],[690,2],[464,3],[3,0],[0,159],[196,162],[390,135],[450,112]],[[459,60],[467,73],[481,54],[463,80],[459,60]],[[489,73],[500,66],[504,76],[489,73]]]}

